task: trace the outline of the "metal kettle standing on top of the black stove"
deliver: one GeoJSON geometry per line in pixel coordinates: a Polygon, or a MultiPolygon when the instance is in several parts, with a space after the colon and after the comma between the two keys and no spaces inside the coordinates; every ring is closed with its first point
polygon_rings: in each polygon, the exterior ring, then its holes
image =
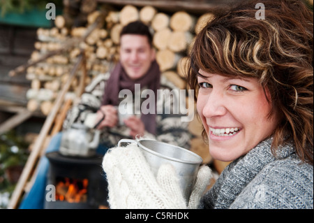
{"type": "Polygon", "coordinates": [[[63,131],[59,151],[66,156],[91,157],[96,154],[99,139],[99,130],[73,123],[69,129],[63,131]]]}

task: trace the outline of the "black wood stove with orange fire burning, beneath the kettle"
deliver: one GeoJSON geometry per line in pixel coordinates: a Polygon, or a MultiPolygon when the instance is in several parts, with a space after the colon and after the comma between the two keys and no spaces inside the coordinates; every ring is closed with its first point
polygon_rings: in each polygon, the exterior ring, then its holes
{"type": "MultiPolygon", "coordinates": [[[[46,154],[50,161],[47,185],[55,188],[55,201],[45,199],[45,209],[96,209],[108,206],[103,157],[68,157],[46,154]]],[[[47,191],[46,191],[47,194],[47,191]]]]}

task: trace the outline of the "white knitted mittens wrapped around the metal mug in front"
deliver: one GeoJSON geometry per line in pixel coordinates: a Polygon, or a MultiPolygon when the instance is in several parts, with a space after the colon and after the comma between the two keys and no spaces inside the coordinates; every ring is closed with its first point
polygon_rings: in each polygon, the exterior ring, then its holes
{"type": "Polygon", "coordinates": [[[196,208],[211,178],[209,167],[202,166],[187,206],[174,168],[161,166],[155,178],[140,148],[133,143],[110,149],[103,159],[103,169],[110,208],[196,208]]]}

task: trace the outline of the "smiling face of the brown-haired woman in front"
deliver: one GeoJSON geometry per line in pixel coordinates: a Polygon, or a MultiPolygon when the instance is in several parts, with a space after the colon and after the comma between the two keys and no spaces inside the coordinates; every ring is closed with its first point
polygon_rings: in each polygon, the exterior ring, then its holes
{"type": "Polygon", "coordinates": [[[274,132],[277,119],[269,117],[271,102],[255,78],[226,78],[200,70],[197,82],[197,112],[214,159],[237,159],[274,132]]]}

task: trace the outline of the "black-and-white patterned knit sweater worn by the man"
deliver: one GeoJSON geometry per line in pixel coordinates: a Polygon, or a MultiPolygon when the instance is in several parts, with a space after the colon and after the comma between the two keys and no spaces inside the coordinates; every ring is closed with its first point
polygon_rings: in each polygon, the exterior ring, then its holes
{"type": "MultiPolygon", "coordinates": [[[[109,72],[102,73],[91,81],[85,88],[84,94],[80,97],[80,101],[68,111],[66,120],[63,122],[63,129],[68,129],[75,122],[84,123],[89,113],[96,113],[103,100],[105,86],[109,77],[109,72]]],[[[144,87],[141,88],[141,90],[144,89],[144,87]]],[[[163,75],[160,77],[160,89],[169,92],[172,92],[172,90],[179,91],[179,89],[163,75]]],[[[182,104],[185,105],[185,100],[185,96],[182,97],[177,94],[167,97],[158,97],[157,108],[170,110],[170,114],[158,113],[156,115],[156,136],[147,132],[145,137],[154,138],[158,141],[178,145],[183,148],[190,148],[190,138],[193,136],[188,131],[189,122],[181,122],[181,117],[186,115],[175,112],[179,110],[179,106],[182,106],[182,104]]],[[[103,128],[100,135],[100,143],[107,148],[112,148],[117,145],[121,138],[131,138],[129,132],[130,129],[124,125],[118,125],[113,128],[103,128]]]]}

